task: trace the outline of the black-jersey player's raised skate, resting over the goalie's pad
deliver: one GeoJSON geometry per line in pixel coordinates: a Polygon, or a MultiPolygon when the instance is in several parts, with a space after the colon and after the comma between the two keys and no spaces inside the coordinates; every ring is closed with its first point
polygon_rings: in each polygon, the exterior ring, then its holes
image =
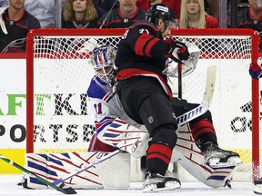
{"type": "Polygon", "coordinates": [[[237,152],[225,151],[220,149],[217,144],[207,142],[204,144],[204,158],[207,165],[216,169],[221,167],[237,166],[242,163],[237,152]]]}

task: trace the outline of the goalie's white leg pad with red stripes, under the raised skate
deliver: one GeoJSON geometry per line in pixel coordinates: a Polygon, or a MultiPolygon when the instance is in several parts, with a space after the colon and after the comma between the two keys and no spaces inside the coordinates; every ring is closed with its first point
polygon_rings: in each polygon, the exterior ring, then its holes
{"type": "MultiPolygon", "coordinates": [[[[171,162],[181,165],[187,172],[198,181],[209,187],[218,188],[226,186],[237,171],[238,165],[217,165],[212,168],[206,164],[203,154],[196,147],[192,139],[190,128],[187,125],[177,129],[177,143],[173,150],[171,162]]],[[[239,157],[238,157],[239,158],[239,157]]]]}

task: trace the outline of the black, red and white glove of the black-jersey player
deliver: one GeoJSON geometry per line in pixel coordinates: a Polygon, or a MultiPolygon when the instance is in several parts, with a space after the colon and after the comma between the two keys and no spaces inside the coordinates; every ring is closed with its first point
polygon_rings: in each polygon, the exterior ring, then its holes
{"type": "Polygon", "coordinates": [[[167,57],[170,57],[176,63],[181,64],[183,64],[182,61],[186,61],[188,59],[189,53],[186,44],[169,38],[167,38],[165,42],[168,45],[166,51],[167,57]]]}

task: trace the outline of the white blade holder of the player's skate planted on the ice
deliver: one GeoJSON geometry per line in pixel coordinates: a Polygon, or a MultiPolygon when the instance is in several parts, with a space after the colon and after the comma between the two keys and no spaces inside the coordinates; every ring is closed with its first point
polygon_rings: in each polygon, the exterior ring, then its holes
{"type": "Polygon", "coordinates": [[[177,181],[166,181],[165,187],[157,188],[156,184],[144,185],[143,192],[158,192],[158,191],[172,191],[180,188],[181,185],[177,181]]]}

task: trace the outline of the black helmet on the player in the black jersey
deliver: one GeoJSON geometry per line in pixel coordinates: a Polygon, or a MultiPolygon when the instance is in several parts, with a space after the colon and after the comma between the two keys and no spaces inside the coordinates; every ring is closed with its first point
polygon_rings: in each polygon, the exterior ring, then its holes
{"type": "Polygon", "coordinates": [[[146,21],[157,25],[158,19],[162,18],[167,25],[174,24],[177,26],[175,13],[164,4],[152,5],[146,13],[146,21]]]}

